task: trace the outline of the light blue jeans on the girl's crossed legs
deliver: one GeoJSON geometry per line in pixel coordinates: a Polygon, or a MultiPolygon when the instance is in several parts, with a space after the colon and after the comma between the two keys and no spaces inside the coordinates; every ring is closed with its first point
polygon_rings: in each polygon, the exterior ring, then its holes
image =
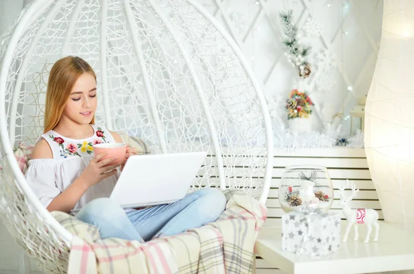
{"type": "Polygon", "coordinates": [[[188,193],[172,204],[128,213],[109,198],[99,198],[86,204],[75,217],[97,226],[103,239],[115,237],[142,242],[214,222],[225,206],[226,197],[219,189],[205,188],[188,193]]]}

